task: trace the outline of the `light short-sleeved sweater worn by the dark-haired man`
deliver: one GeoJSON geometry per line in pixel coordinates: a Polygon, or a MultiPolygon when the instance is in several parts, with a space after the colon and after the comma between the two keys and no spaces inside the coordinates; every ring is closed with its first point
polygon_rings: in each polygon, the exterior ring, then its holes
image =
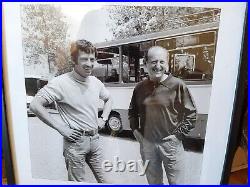
{"type": "Polygon", "coordinates": [[[36,97],[55,101],[61,118],[71,128],[89,131],[98,129],[99,99],[108,99],[109,92],[96,77],[83,79],[72,71],[52,79],[36,97]]]}

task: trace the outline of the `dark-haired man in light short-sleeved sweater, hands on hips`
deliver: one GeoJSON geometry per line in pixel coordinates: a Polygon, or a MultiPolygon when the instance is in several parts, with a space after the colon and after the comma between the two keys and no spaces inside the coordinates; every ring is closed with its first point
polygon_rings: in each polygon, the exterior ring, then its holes
{"type": "Polygon", "coordinates": [[[112,101],[104,84],[91,76],[96,48],[86,40],[78,40],[71,46],[71,57],[74,70],[55,77],[39,90],[30,109],[64,137],[63,155],[68,180],[86,181],[87,163],[96,180],[104,183],[98,128],[105,125],[112,101]],[[98,118],[99,99],[104,101],[101,118],[98,118]],[[45,109],[52,102],[57,103],[61,121],[55,120],[45,109]]]}

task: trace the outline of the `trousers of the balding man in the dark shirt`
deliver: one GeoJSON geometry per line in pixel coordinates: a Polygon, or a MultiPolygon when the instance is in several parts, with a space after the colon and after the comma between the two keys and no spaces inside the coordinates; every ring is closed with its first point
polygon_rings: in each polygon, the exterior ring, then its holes
{"type": "Polygon", "coordinates": [[[163,184],[163,167],[169,184],[184,184],[185,156],[182,141],[172,138],[166,141],[150,142],[144,138],[141,156],[149,161],[146,177],[149,184],[163,184]]]}

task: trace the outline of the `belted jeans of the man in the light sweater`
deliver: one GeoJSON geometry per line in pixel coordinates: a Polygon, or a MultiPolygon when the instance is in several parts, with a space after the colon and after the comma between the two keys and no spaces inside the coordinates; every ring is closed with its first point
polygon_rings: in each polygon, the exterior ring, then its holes
{"type": "Polygon", "coordinates": [[[99,145],[99,134],[83,135],[80,140],[70,142],[64,139],[66,168],[69,181],[86,182],[85,166],[89,165],[98,183],[106,183],[102,169],[103,154],[99,145]]]}

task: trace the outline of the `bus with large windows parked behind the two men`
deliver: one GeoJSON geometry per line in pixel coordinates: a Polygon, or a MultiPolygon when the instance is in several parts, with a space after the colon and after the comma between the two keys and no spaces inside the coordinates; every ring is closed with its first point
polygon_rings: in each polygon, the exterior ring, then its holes
{"type": "MultiPolygon", "coordinates": [[[[190,138],[205,138],[215,62],[218,22],[134,36],[128,39],[95,44],[98,66],[94,73],[108,88],[114,100],[107,127],[111,132],[131,130],[128,108],[135,85],[147,77],[145,55],[154,45],[169,51],[170,72],[182,78],[194,97],[198,110],[196,127],[190,138]],[[117,82],[106,82],[112,69],[118,72],[117,82]]],[[[102,111],[99,112],[101,114],[102,111]]]]}

